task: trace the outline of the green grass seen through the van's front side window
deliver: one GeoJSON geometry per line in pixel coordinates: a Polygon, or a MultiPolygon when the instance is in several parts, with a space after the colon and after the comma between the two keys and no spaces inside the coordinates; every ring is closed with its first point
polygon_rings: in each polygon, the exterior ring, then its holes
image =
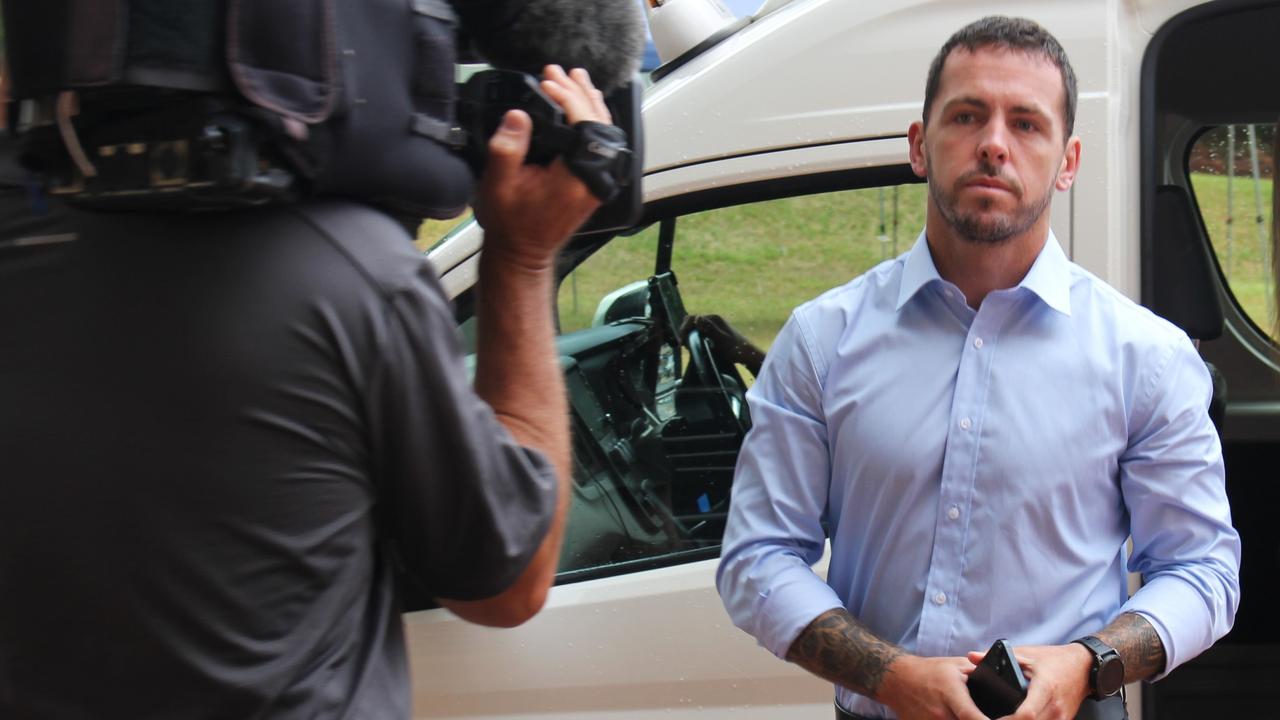
{"type": "MultiPolygon", "coordinates": [[[[923,184],[899,190],[897,252],[924,223],[923,184]]],[[[768,347],[791,310],[893,255],[893,191],[884,191],[888,241],[881,241],[879,191],[791,197],[686,215],[676,224],[672,268],[690,313],[716,313],[768,347]]],[[[590,325],[609,291],[653,274],[658,228],[617,238],[579,266],[559,291],[561,327],[590,325]]]]}

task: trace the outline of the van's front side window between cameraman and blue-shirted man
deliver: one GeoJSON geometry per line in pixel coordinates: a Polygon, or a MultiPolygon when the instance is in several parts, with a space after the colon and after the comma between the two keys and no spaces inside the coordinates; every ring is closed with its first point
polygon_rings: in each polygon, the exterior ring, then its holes
{"type": "Polygon", "coordinates": [[[669,218],[561,281],[575,483],[559,582],[718,555],[754,375],[669,328],[714,314],[767,350],[796,305],[906,252],[925,192],[869,187],[669,218]],[[658,273],[663,225],[671,274],[658,273]]]}

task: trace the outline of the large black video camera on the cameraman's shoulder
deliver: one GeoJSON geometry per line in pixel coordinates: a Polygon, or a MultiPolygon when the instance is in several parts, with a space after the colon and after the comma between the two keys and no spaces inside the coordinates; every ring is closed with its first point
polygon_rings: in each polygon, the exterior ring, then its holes
{"type": "Polygon", "coordinates": [[[445,0],[10,1],[4,19],[23,161],[79,206],[325,195],[454,217],[520,108],[529,161],[564,158],[607,200],[585,229],[639,217],[639,83],[607,96],[617,128],[570,127],[521,72],[458,85],[465,28],[445,0]]]}

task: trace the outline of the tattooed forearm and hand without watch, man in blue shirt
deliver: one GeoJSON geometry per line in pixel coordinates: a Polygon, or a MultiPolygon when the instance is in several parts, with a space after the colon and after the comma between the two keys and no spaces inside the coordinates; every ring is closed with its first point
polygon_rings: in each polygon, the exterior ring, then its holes
{"type": "Polygon", "coordinates": [[[918,657],[886,642],[847,610],[823,612],[800,632],[787,661],[892,707],[899,717],[983,720],[965,679],[963,657],[918,657]]]}

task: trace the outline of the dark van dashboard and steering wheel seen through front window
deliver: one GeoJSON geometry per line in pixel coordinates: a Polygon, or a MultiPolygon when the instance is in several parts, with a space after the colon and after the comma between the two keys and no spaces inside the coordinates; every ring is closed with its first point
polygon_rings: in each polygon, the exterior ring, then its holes
{"type": "MultiPolygon", "coordinates": [[[[666,220],[673,227],[675,220],[666,220]]],[[[746,383],[687,316],[663,232],[654,274],[559,337],[573,427],[575,521],[561,582],[714,548],[750,428],[746,383]]]]}

